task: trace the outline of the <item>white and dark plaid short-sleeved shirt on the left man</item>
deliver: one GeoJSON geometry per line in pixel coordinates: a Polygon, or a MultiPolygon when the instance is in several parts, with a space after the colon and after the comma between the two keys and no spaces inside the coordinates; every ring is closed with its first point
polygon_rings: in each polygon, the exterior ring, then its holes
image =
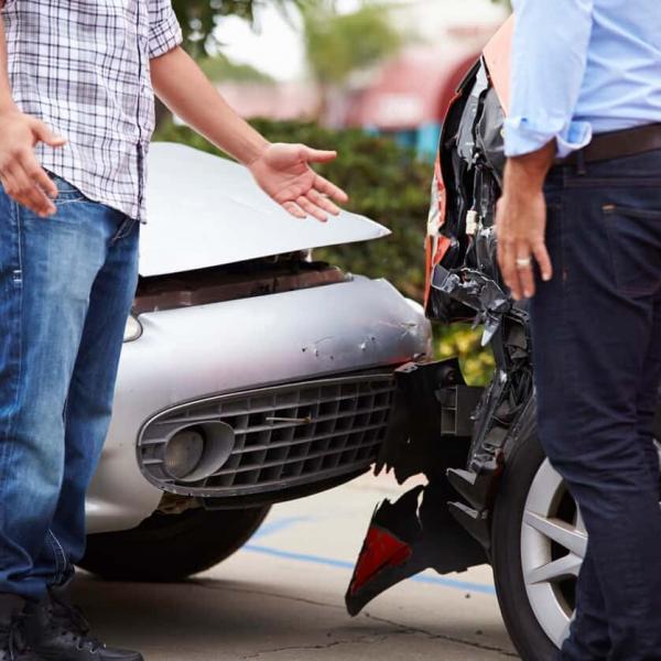
{"type": "Polygon", "coordinates": [[[144,219],[154,128],[149,61],[182,42],[171,0],[0,0],[13,98],[67,139],[43,167],[144,219]]]}

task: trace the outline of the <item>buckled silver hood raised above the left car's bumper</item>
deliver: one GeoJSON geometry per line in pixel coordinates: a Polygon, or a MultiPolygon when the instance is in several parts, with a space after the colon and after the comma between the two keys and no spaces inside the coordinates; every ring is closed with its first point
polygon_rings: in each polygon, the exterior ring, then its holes
{"type": "Polygon", "coordinates": [[[143,277],[388,236],[378,223],[343,212],[300,220],[274,204],[241,165],[182,144],[156,142],[149,156],[149,224],[143,277]]]}

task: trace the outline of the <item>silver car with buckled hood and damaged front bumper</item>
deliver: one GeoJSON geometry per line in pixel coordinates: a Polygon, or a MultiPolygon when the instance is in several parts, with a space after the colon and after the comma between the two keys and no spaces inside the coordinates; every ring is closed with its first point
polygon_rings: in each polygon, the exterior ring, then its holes
{"type": "Polygon", "coordinates": [[[393,370],[430,354],[431,328],[386,280],[313,260],[389,234],[367,218],[294,219],[241,166],[169,143],[149,199],[82,565],[171,581],[240,548],[273,502],[367,470],[393,370]]]}

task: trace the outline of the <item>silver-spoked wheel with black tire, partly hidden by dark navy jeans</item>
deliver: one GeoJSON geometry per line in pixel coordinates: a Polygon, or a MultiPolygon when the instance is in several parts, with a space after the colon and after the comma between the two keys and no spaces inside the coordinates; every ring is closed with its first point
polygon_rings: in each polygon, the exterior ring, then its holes
{"type": "Polygon", "coordinates": [[[587,534],[537,436],[510,455],[496,500],[491,561],[498,600],[524,661],[546,661],[568,635],[587,534]]]}

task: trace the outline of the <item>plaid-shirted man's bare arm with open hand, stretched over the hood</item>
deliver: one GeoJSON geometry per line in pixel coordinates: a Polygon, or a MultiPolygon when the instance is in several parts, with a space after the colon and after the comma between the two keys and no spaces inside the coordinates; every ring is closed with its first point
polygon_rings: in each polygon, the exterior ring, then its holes
{"type": "Polygon", "coordinates": [[[333,151],[303,144],[271,144],[243,121],[181,48],[151,59],[151,77],[163,102],[213,144],[247,165],[258,184],[293,216],[326,220],[347,195],[316,174],[311,163],[335,159],[333,151]]]}

